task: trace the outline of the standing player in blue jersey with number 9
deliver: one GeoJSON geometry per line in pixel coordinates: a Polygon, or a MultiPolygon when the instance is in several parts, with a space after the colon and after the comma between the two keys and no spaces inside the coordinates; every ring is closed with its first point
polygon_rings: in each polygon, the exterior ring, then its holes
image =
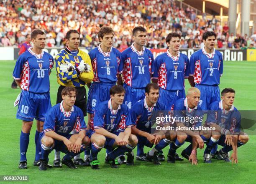
{"type": "MultiPolygon", "coordinates": [[[[160,87],[158,101],[171,109],[177,99],[185,98],[185,79],[188,77],[188,57],[179,52],[181,36],[171,32],[166,37],[167,52],[156,57],[153,82],[160,87]]],[[[177,160],[183,160],[176,154],[177,160]]]]}

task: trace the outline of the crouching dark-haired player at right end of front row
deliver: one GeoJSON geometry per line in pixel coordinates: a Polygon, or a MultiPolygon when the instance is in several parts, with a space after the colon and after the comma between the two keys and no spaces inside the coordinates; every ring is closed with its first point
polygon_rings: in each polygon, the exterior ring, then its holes
{"type": "Polygon", "coordinates": [[[207,144],[205,152],[210,154],[212,147],[219,144],[223,146],[219,153],[224,161],[230,162],[228,152],[233,149],[231,159],[232,162],[237,163],[237,148],[246,144],[249,137],[240,130],[241,114],[233,105],[235,93],[235,90],[225,88],[221,92],[222,100],[210,104],[207,113],[207,125],[215,127],[215,131],[212,131],[211,144],[207,144]]]}

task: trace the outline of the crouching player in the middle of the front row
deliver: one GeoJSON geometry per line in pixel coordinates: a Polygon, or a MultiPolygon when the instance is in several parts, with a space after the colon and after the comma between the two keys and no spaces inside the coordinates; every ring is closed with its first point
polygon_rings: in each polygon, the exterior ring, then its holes
{"type": "MultiPolygon", "coordinates": [[[[172,141],[170,139],[166,139],[164,132],[161,134],[154,134],[151,132],[151,127],[153,122],[151,121],[154,117],[158,116],[159,113],[164,113],[163,111],[167,111],[167,108],[164,104],[158,102],[159,97],[159,86],[156,83],[149,83],[145,88],[144,99],[136,102],[130,111],[130,116],[128,122],[131,122],[134,126],[131,128],[132,133],[137,135],[138,144],[142,149],[137,149],[136,159],[140,161],[150,161],[154,164],[161,164],[159,162],[158,154],[159,152],[169,145],[172,141]],[[152,117],[152,118],[151,118],[152,117]],[[154,149],[152,149],[147,154],[144,154],[143,148],[153,147],[156,144],[154,149]]],[[[162,126],[164,126],[162,124],[162,126]]],[[[171,135],[172,140],[176,135],[171,135]]],[[[127,156],[129,157],[128,153],[127,156]]],[[[126,164],[133,164],[133,162],[129,163],[127,160],[126,164]]]]}

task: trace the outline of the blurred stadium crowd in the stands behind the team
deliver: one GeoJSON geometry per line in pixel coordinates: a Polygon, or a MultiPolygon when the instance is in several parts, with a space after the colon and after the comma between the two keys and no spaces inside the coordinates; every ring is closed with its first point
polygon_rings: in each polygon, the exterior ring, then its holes
{"type": "Polygon", "coordinates": [[[174,0],[3,0],[0,3],[0,46],[19,46],[31,30],[40,28],[47,33],[48,47],[64,47],[69,29],[79,30],[80,46],[95,47],[96,33],[102,25],[113,27],[113,46],[120,50],[131,45],[131,31],[139,25],[146,27],[149,48],[166,48],[164,37],[172,31],[182,35],[181,48],[202,47],[205,31],[217,33],[218,48],[254,48],[256,40],[255,36],[229,34],[227,23],[221,26],[215,17],[200,19],[193,9],[180,9],[174,0]]]}

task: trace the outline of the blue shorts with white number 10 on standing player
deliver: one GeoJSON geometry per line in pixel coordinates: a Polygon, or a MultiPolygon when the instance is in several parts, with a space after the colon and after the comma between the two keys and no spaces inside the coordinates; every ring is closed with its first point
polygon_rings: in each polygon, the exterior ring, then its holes
{"type": "Polygon", "coordinates": [[[16,118],[28,122],[36,118],[36,120],[44,122],[46,113],[50,108],[50,92],[33,93],[22,90],[16,118]]]}

